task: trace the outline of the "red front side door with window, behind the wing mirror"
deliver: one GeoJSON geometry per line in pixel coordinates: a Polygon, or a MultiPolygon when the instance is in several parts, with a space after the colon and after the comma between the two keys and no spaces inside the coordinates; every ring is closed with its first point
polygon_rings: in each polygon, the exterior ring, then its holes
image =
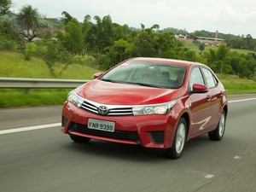
{"type": "Polygon", "coordinates": [[[208,92],[206,93],[193,93],[193,84],[207,85],[200,67],[194,67],[189,76],[189,109],[191,113],[191,126],[189,129],[188,137],[195,137],[209,128],[211,120],[211,103],[209,102],[208,92]]]}

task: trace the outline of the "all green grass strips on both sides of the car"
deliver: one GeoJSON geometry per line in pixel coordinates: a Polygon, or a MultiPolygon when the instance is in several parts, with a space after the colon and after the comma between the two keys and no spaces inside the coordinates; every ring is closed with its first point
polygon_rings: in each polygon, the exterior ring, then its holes
{"type": "MultiPolygon", "coordinates": [[[[51,74],[43,60],[32,57],[26,61],[23,55],[15,52],[0,52],[0,77],[15,78],[39,78],[51,79],[51,74]]],[[[102,71],[95,67],[87,67],[73,63],[60,74],[65,67],[57,63],[54,72],[57,79],[92,79],[94,73],[102,71]]],[[[256,93],[256,82],[252,79],[241,79],[236,75],[220,74],[218,78],[224,83],[229,94],[256,93]]],[[[37,105],[63,104],[66,101],[67,93],[71,89],[50,89],[50,90],[23,90],[3,89],[0,90],[0,108],[26,107],[37,105]]]]}

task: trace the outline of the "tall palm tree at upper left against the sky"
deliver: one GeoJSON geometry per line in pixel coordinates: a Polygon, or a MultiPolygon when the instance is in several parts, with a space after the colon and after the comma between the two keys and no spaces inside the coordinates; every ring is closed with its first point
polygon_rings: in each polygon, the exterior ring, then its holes
{"type": "Polygon", "coordinates": [[[22,7],[17,15],[17,19],[22,23],[20,35],[26,38],[28,42],[32,42],[32,39],[38,35],[39,18],[38,9],[33,9],[31,5],[22,7]]]}

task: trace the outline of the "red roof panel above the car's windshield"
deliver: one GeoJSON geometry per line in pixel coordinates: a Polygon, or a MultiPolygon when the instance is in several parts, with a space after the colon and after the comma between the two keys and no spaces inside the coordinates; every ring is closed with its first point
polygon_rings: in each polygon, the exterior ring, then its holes
{"type": "Polygon", "coordinates": [[[131,60],[128,61],[150,61],[150,62],[161,62],[166,64],[175,64],[180,66],[206,66],[204,64],[201,64],[199,62],[193,62],[193,61],[183,61],[183,60],[174,60],[174,59],[166,59],[166,58],[156,58],[156,57],[135,57],[131,58],[131,60]]]}

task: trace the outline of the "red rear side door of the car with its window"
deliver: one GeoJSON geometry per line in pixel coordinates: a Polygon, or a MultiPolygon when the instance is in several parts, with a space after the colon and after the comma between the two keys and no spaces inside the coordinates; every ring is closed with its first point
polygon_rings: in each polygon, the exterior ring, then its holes
{"type": "Polygon", "coordinates": [[[219,115],[221,113],[221,97],[224,95],[223,92],[218,87],[218,80],[212,74],[212,72],[206,67],[201,67],[201,71],[208,87],[208,96],[210,96],[210,106],[211,106],[211,120],[209,130],[216,128],[218,125],[219,115]]]}

